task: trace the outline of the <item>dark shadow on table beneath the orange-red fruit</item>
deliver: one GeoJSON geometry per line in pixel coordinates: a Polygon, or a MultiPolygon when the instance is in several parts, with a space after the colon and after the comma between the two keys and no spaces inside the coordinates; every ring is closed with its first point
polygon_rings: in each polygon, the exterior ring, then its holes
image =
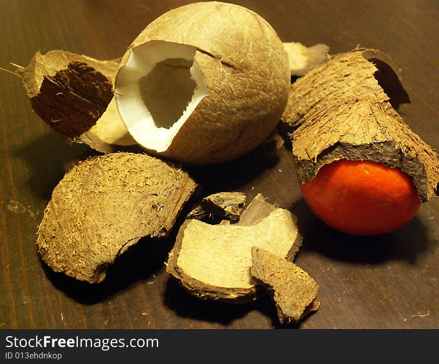
{"type": "Polygon", "coordinates": [[[299,229],[303,234],[300,251],[314,250],[336,260],[357,264],[394,259],[415,264],[417,257],[428,249],[426,228],[417,216],[390,234],[352,236],[326,226],[309,209],[303,198],[294,202],[289,210],[298,217],[299,229]]]}

